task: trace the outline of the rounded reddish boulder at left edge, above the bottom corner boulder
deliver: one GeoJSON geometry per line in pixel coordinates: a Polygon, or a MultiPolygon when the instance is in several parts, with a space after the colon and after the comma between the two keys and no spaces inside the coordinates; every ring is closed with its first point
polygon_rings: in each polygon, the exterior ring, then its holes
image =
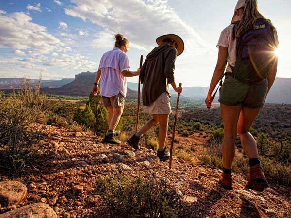
{"type": "Polygon", "coordinates": [[[27,188],[17,181],[0,182],[0,204],[2,207],[17,205],[26,195],[27,188]]]}

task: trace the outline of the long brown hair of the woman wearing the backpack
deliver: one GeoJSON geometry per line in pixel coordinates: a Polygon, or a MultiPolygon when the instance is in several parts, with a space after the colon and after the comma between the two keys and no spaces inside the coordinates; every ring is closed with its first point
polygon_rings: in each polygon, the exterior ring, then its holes
{"type": "MultiPolygon", "coordinates": [[[[246,0],[245,6],[242,8],[242,10],[243,10],[242,18],[241,20],[237,21],[235,25],[233,39],[235,37],[239,38],[248,31],[254,29],[257,19],[259,18],[266,19],[265,16],[263,16],[259,12],[257,0],[246,0]]],[[[267,21],[269,22],[271,27],[275,29],[271,21],[270,20],[267,21]]]]}

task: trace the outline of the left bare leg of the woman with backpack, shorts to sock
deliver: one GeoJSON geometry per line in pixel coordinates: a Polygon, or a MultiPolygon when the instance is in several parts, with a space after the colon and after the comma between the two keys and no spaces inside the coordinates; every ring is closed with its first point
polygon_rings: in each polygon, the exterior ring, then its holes
{"type": "Polygon", "coordinates": [[[242,106],[227,106],[220,104],[221,117],[224,125],[224,137],[222,143],[223,167],[231,169],[234,158],[234,141],[237,136],[237,123],[242,106]]]}

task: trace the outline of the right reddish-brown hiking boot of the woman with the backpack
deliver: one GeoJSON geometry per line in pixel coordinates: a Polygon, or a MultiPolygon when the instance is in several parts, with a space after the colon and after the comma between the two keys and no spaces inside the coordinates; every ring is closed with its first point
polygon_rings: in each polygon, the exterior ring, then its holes
{"type": "Polygon", "coordinates": [[[253,167],[250,167],[249,177],[249,181],[246,184],[247,189],[264,191],[264,189],[268,187],[268,182],[261,165],[257,164],[253,167]]]}

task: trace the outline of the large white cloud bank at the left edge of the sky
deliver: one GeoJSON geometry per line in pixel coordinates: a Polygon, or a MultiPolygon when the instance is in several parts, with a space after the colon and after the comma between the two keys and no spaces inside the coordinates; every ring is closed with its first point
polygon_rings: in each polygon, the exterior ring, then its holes
{"type": "Polygon", "coordinates": [[[64,44],[47,32],[46,27],[35,24],[23,12],[10,16],[0,15],[0,46],[28,50],[28,54],[46,54],[61,49],[64,44]]]}

